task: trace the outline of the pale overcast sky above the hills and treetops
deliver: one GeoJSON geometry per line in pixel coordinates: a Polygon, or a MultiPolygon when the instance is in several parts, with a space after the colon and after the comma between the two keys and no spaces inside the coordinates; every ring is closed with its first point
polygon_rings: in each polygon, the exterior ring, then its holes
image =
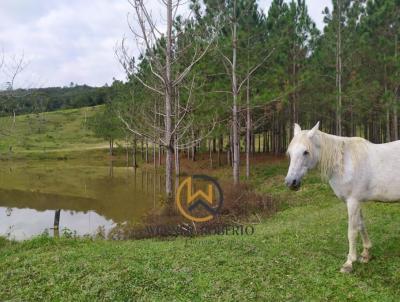
{"type": "MultiPolygon", "coordinates": [[[[148,0],[154,8],[159,0],[148,0]]],[[[330,0],[306,0],[321,29],[330,0]]],[[[271,0],[260,0],[265,11],[271,0]]],[[[114,48],[129,37],[126,0],[1,0],[0,51],[6,59],[24,54],[29,65],[16,86],[66,86],[70,82],[102,86],[124,72],[114,48]]],[[[159,12],[155,12],[159,15],[159,12]]],[[[1,58],[0,58],[1,59],[1,58]]],[[[0,82],[6,81],[4,72],[0,82]]]]}

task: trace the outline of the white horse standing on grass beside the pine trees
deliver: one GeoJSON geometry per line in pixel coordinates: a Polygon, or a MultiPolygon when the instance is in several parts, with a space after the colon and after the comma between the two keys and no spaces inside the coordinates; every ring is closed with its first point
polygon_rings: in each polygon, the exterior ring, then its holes
{"type": "Polygon", "coordinates": [[[298,189],[302,177],[319,164],[321,176],[329,181],[336,196],[346,202],[348,211],[349,254],[341,272],[349,273],[357,260],[356,239],[360,232],[363,252],[360,261],[371,258],[368,238],[361,214],[362,201],[398,201],[400,184],[400,141],[373,144],[361,137],[341,137],[294,125],[294,137],[287,153],[290,166],[285,183],[298,189]]]}

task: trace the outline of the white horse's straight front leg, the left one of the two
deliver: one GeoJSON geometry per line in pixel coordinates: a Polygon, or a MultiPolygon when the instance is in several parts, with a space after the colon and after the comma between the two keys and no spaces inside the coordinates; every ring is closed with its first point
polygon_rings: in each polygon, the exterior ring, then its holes
{"type": "Polygon", "coordinates": [[[358,225],[360,221],[360,202],[355,199],[347,200],[347,214],[348,214],[348,231],[347,236],[349,239],[349,253],[347,261],[343,264],[340,271],[342,273],[350,273],[353,270],[353,262],[357,260],[357,234],[358,225]]]}

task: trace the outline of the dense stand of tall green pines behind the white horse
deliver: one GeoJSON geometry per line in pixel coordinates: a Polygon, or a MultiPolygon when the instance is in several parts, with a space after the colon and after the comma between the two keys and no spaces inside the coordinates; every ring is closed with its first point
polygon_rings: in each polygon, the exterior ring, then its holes
{"type": "Polygon", "coordinates": [[[248,177],[251,153],[284,152],[295,122],[398,139],[400,1],[333,0],[322,32],[305,0],[274,0],[267,13],[255,0],[191,0],[187,18],[167,0],[162,29],[143,1],[129,2],[142,52],[122,41],[127,82],[114,82],[107,106],[133,144],[164,150],[168,194],[179,153],[226,152],[238,183],[241,153],[248,177]]]}

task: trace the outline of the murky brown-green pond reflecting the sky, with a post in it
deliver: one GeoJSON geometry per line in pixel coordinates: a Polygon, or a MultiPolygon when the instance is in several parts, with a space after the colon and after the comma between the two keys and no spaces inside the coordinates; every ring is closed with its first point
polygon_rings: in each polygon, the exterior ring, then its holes
{"type": "Polygon", "coordinates": [[[95,235],[140,223],[162,199],[164,177],[149,171],[69,161],[3,161],[0,236],[28,239],[45,231],[95,235]]]}

